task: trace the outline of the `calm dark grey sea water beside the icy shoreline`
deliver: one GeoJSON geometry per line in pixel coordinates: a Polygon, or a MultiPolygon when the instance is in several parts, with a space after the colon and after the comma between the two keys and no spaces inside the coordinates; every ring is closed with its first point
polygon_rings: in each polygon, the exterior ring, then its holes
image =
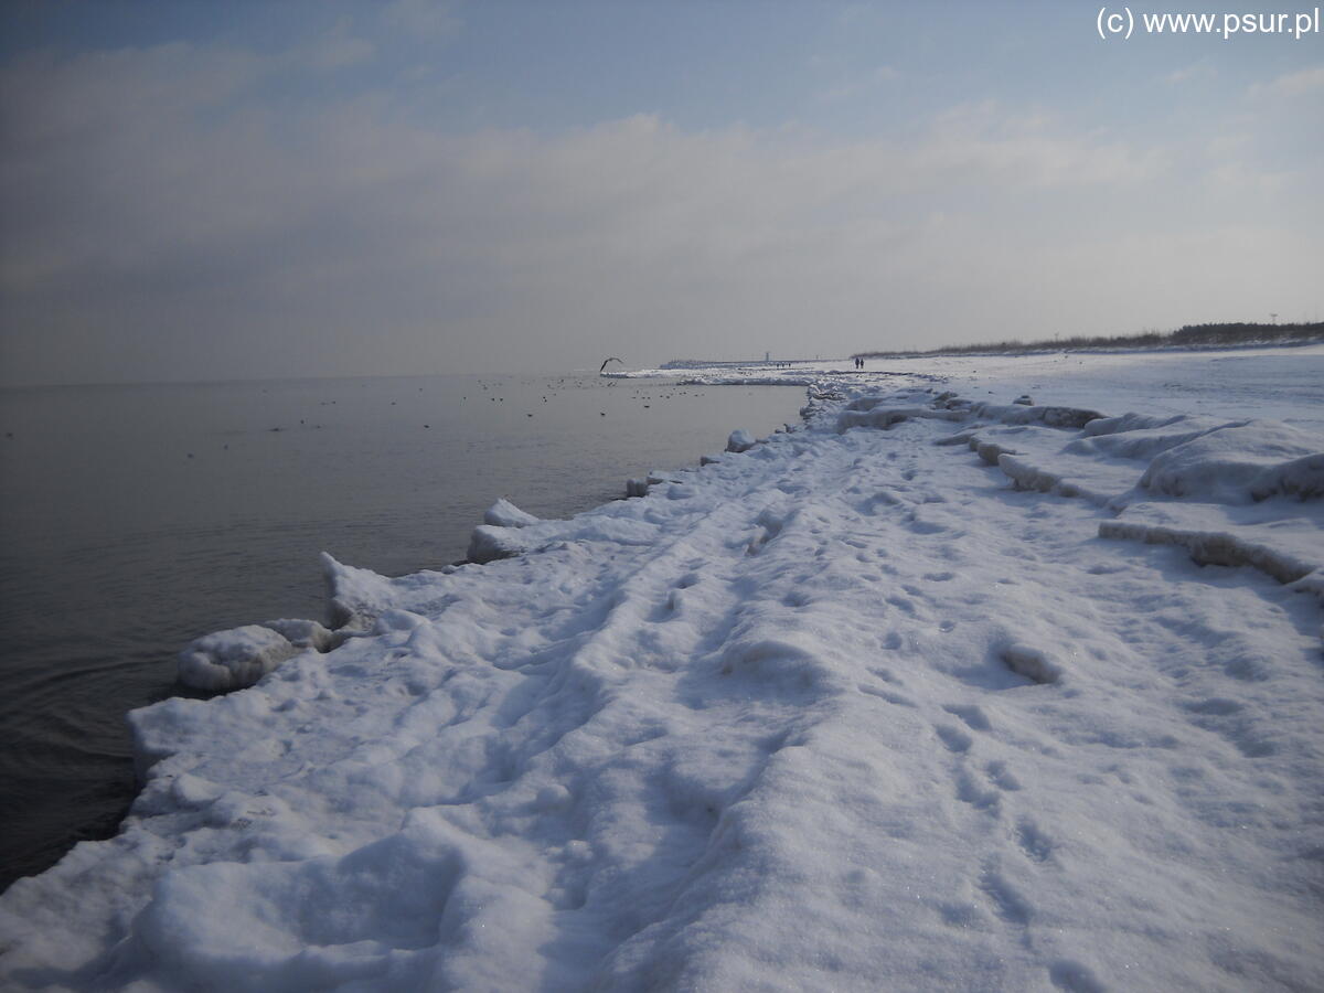
{"type": "Polygon", "coordinates": [[[187,641],[323,618],[318,552],[458,561],[499,495],[567,516],[802,402],[596,376],[0,391],[0,888],[114,834],[124,714],[180,691],[187,641]]]}

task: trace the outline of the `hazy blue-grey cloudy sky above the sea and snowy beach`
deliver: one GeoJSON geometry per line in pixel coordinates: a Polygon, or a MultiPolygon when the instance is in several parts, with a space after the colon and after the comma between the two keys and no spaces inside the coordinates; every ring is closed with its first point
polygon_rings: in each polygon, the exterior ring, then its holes
{"type": "MultiPolygon", "coordinates": [[[[1107,13],[1315,9],[1284,4],[1107,13]]],[[[1324,34],[1099,24],[1096,0],[7,0],[0,384],[1321,319],[1324,34]]]]}

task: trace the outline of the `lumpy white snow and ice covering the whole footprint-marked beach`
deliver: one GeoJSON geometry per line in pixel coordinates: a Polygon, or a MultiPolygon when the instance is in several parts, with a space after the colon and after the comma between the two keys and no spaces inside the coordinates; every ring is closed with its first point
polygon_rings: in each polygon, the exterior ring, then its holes
{"type": "Polygon", "coordinates": [[[326,556],[330,650],[131,715],[0,986],[1324,986],[1324,350],[790,372],[487,564],[326,556]]]}

